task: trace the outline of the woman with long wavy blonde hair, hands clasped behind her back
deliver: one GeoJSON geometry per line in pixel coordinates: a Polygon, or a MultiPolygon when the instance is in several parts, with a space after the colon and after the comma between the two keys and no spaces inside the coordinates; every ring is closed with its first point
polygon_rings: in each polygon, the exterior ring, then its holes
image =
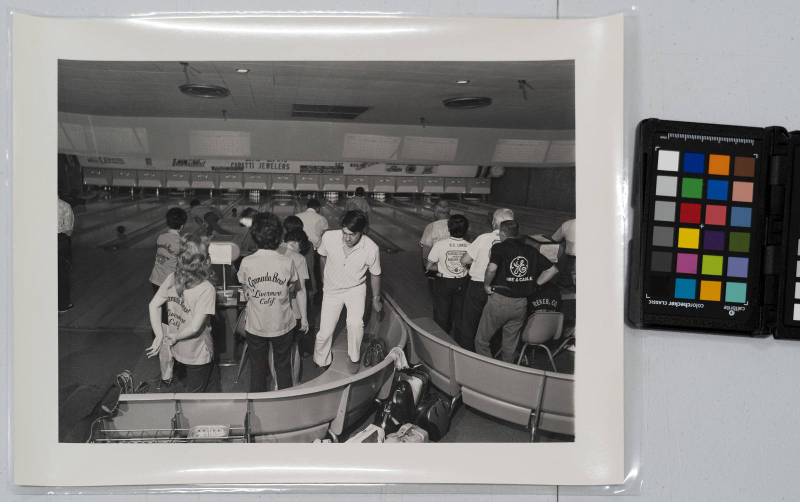
{"type": "Polygon", "coordinates": [[[178,267],[150,301],[150,325],[156,337],[147,357],[157,355],[162,345],[170,347],[175,361],[186,367],[186,392],[218,392],[219,386],[209,317],[214,314],[216,293],[209,281],[214,273],[208,243],[207,237],[183,235],[178,267]],[[161,324],[165,303],[169,325],[161,324]]]}

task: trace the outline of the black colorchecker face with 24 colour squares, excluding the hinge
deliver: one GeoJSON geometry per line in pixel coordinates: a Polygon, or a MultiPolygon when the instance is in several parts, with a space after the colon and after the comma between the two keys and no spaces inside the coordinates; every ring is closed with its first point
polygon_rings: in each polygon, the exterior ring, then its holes
{"type": "Polygon", "coordinates": [[[761,141],[654,133],[653,145],[643,309],[749,319],[761,141]]]}

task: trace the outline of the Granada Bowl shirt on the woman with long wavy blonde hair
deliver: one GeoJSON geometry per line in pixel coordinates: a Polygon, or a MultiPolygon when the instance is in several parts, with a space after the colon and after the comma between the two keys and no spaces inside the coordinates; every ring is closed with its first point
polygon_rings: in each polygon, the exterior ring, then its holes
{"type": "MultiPolygon", "coordinates": [[[[214,315],[217,293],[209,281],[202,281],[194,288],[184,289],[183,296],[178,297],[175,290],[175,277],[170,273],[164,279],[155,297],[166,301],[166,318],[169,321],[170,333],[178,333],[186,325],[190,325],[195,316],[214,315]]],[[[214,341],[211,340],[211,323],[206,323],[200,333],[175,342],[170,347],[173,357],[184,365],[206,365],[214,354],[214,341]]]]}

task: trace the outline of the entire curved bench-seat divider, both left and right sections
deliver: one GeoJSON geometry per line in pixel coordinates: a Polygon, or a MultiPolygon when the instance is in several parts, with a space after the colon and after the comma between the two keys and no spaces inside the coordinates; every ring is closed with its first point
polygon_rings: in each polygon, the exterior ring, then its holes
{"type": "MultiPolygon", "coordinates": [[[[390,348],[409,345],[433,383],[455,402],[538,430],[574,436],[574,376],[496,361],[465,349],[429,317],[410,319],[384,294],[384,318],[375,336],[390,348]]],[[[334,438],[360,419],[377,397],[389,396],[394,359],[351,375],[346,336],[334,342],[325,373],[274,392],[207,394],[122,394],[118,414],[104,419],[98,442],[185,440],[198,425],[225,425],[243,442],[310,442],[334,438]]]]}

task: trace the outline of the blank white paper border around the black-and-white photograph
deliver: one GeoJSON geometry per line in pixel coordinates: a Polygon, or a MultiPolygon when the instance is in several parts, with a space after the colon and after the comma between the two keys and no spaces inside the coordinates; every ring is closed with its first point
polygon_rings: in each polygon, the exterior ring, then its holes
{"type": "Polygon", "coordinates": [[[622,25],[622,14],[558,21],[184,15],[66,19],[14,14],[14,483],[622,483],[622,25]],[[58,151],[58,59],[573,59],[576,213],[582,249],[590,249],[578,264],[581,347],[575,361],[574,443],[59,443],[56,177],[42,176],[52,169],[58,151]]]}

